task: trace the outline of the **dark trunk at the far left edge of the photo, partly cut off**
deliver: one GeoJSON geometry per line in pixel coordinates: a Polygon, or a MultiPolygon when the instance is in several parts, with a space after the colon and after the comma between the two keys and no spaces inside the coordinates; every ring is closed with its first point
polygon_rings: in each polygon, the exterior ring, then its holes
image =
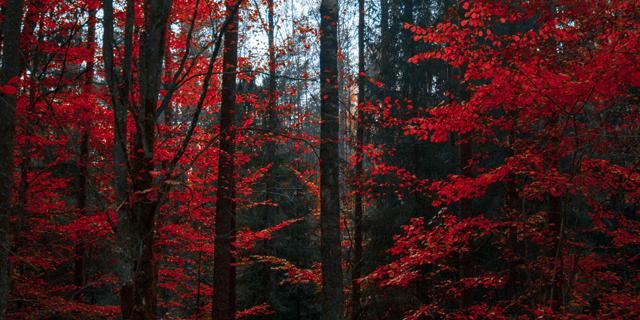
{"type": "MultiPolygon", "coordinates": [[[[2,30],[2,74],[0,85],[20,76],[20,27],[22,0],[7,0],[2,30]]],[[[11,285],[9,265],[11,198],[14,149],[16,144],[16,94],[0,93],[0,320],[7,318],[7,298],[11,285]]]]}

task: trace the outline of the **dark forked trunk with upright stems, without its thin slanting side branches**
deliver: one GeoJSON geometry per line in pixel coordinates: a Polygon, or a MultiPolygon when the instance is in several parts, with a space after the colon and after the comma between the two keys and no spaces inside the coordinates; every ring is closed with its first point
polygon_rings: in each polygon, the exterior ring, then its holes
{"type": "Polygon", "coordinates": [[[127,108],[130,99],[133,61],[134,1],[127,1],[122,75],[114,65],[113,3],[104,0],[104,61],[107,84],[114,108],[114,189],[118,206],[116,246],[120,252],[118,281],[123,319],[153,319],[156,309],[157,267],[153,254],[157,199],[148,197],[153,188],[156,108],[164,58],[171,0],[143,3],[145,25],[140,33],[139,100],[134,112],[136,133],[131,166],[127,163],[127,108]],[[130,167],[130,172],[128,168],[130,167]],[[127,175],[132,194],[128,195],[127,175]]]}

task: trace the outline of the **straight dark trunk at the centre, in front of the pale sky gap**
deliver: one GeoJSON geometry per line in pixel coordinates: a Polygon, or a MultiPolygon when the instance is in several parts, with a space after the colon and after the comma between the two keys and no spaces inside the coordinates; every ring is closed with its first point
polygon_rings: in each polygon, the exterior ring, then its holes
{"type": "Polygon", "coordinates": [[[320,228],[322,315],[343,318],[338,150],[338,1],[320,4],[320,228]]]}

